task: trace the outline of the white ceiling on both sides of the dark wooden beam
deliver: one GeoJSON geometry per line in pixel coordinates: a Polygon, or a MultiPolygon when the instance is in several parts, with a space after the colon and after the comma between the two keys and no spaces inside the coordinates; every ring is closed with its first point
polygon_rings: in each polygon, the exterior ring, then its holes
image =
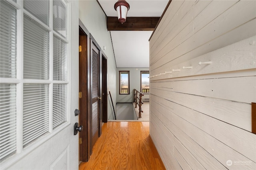
{"type": "MultiPolygon", "coordinates": [[[[127,17],[160,17],[169,0],[126,0],[127,17]]],[[[107,16],[117,16],[117,0],[98,0],[107,16]]],[[[117,19],[116,19],[117,20],[117,19]]],[[[127,19],[126,19],[127,20],[127,19]]],[[[148,68],[152,31],[110,31],[118,68],[148,68]]]]}

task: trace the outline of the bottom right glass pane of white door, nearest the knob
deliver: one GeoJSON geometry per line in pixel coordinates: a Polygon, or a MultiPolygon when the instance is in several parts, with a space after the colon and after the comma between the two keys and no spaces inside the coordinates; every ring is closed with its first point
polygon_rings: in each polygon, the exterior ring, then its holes
{"type": "Polygon", "coordinates": [[[53,85],[53,128],[67,121],[67,85],[53,85]]]}

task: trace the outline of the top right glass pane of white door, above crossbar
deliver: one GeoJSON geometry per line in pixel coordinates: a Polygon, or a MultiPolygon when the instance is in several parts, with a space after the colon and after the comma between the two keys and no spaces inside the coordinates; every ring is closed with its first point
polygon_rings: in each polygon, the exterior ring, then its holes
{"type": "Polygon", "coordinates": [[[53,29],[66,37],[66,4],[62,0],[53,1],[53,29]]]}

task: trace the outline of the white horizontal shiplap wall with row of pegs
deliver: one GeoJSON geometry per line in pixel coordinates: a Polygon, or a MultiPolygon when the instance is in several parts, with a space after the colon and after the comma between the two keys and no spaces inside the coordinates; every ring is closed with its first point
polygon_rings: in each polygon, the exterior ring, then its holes
{"type": "Polygon", "coordinates": [[[256,169],[255,0],[172,0],[150,39],[150,76],[166,169],[256,169]]]}

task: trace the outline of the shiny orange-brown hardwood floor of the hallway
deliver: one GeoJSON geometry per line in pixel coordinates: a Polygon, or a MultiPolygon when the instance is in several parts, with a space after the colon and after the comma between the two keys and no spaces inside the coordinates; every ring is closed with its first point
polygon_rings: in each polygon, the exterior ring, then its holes
{"type": "Polygon", "coordinates": [[[165,170],[149,136],[149,122],[108,122],[79,170],[165,170]]]}

